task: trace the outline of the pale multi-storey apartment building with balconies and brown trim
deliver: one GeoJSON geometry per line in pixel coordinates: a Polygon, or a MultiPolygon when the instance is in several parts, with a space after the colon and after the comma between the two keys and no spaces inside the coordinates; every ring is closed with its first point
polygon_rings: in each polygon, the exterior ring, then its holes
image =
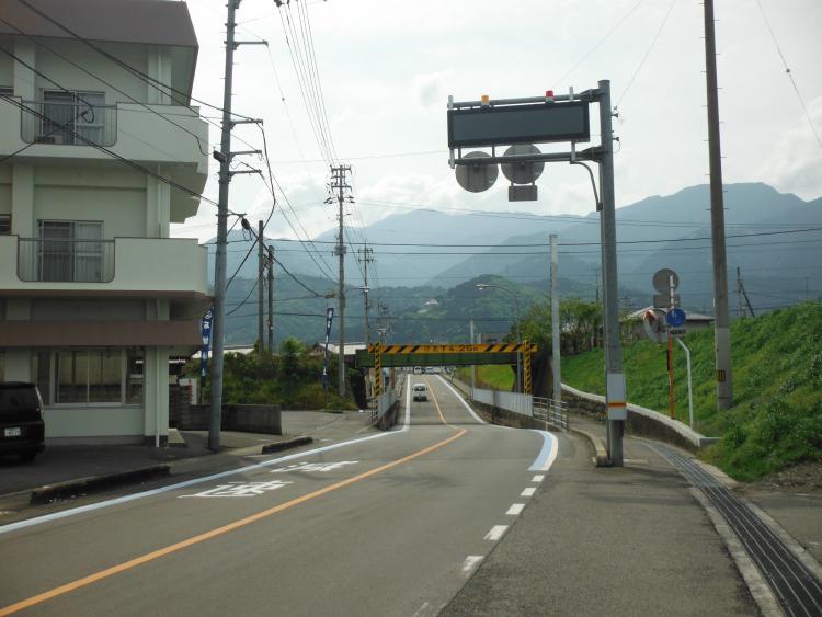
{"type": "Polygon", "coordinates": [[[164,443],[210,304],[206,248],[169,237],[208,170],[191,18],[27,2],[0,0],[0,380],[38,385],[53,445],[164,443]]]}

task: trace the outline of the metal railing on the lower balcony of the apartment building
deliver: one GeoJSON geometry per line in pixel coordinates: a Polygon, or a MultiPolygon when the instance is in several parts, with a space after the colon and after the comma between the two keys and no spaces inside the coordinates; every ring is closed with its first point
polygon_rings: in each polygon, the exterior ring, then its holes
{"type": "Polygon", "coordinates": [[[114,240],[20,238],[21,281],[110,283],[114,278],[114,240]]]}

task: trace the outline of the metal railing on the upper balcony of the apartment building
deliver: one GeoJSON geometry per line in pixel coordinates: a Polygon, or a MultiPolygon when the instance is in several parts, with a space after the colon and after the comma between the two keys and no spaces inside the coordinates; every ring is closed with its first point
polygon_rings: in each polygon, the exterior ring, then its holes
{"type": "Polygon", "coordinates": [[[113,146],[117,140],[116,105],[62,101],[23,101],[21,137],[27,144],[89,142],[113,146]]]}

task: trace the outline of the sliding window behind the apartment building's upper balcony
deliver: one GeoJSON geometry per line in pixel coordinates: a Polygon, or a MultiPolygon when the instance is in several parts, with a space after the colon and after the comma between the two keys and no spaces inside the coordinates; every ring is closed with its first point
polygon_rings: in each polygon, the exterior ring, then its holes
{"type": "Polygon", "coordinates": [[[43,91],[41,141],[49,144],[105,144],[109,107],[102,92],[43,91]]]}

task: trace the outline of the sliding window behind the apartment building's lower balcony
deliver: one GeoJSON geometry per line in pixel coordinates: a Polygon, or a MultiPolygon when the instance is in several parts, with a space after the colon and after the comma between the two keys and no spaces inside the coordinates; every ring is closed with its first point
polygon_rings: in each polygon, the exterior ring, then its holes
{"type": "Polygon", "coordinates": [[[39,281],[103,281],[103,224],[41,220],[39,281]]]}

